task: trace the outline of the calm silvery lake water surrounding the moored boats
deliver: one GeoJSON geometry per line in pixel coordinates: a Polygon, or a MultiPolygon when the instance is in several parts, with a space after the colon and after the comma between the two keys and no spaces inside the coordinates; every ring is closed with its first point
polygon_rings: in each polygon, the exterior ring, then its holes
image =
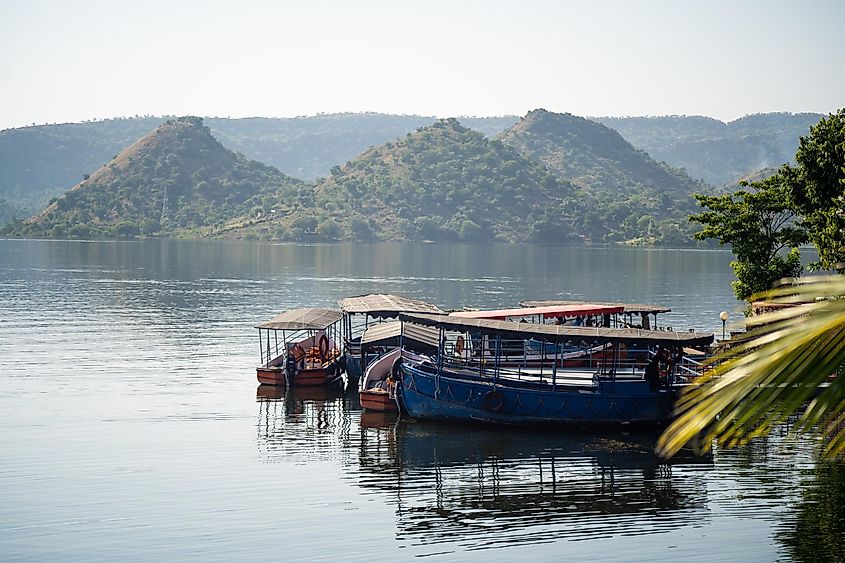
{"type": "Polygon", "coordinates": [[[664,325],[721,331],[720,310],[738,316],[729,261],[0,241],[0,559],[841,558],[807,443],[778,435],[667,464],[653,436],[414,424],[362,413],[354,394],[255,381],[256,322],[369,292],[443,307],[656,302],[674,310],[664,325]]]}

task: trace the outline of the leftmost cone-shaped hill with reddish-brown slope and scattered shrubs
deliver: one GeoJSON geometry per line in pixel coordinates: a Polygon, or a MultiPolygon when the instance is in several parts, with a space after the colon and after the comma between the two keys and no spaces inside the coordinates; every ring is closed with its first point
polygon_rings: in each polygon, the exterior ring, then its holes
{"type": "Polygon", "coordinates": [[[200,118],[166,121],[26,223],[22,236],[197,234],[310,187],[227,150],[200,118]]]}

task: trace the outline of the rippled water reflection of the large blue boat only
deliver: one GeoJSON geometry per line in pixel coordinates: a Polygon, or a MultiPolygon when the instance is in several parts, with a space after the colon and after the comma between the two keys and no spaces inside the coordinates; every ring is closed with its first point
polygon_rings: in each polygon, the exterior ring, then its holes
{"type": "MultiPolygon", "coordinates": [[[[362,487],[396,504],[397,537],[488,549],[653,534],[706,518],[699,472],[651,453],[654,436],[610,438],[399,423],[394,471],[362,441],[362,487]],[[367,471],[372,469],[372,471],[367,471]],[[491,536],[491,530],[498,530],[491,536]]],[[[364,432],[373,432],[373,429],[364,432]]],[[[380,452],[379,452],[380,455],[380,452]]],[[[709,459],[685,460],[710,467],[709,459]]]]}

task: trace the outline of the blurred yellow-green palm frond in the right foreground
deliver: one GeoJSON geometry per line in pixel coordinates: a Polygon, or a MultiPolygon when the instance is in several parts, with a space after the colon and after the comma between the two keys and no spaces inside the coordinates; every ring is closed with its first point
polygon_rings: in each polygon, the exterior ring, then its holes
{"type": "Polygon", "coordinates": [[[687,444],[706,450],[714,439],[734,447],[793,415],[794,429],[819,429],[826,456],[845,454],[845,277],[809,277],[758,297],[790,306],[749,318],[748,332],[684,390],[661,455],[687,444]]]}

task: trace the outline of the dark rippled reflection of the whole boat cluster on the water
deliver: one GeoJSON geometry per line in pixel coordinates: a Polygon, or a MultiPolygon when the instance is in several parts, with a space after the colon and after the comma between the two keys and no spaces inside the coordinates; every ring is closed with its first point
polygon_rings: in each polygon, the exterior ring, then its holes
{"type": "Polygon", "coordinates": [[[431,425],[319,393],[259,389],[262,457],[341,458],[342,479],[393,506],[396,540],[432,553],[658,534],[709,518],[712,458],[663,462],[652,434],[431,425]]]}

